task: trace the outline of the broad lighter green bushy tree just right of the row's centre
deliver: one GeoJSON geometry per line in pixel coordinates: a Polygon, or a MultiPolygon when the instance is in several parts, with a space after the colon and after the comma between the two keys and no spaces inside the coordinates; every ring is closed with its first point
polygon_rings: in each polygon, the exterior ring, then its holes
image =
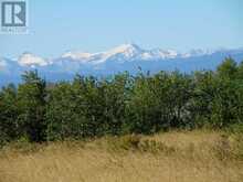
{"type": "Polygon", "coordinates": [[[138,76],[129,105],[131,130],[150,133],[186,126],[191,89],[191,79],[178,72],[138,76]]]}

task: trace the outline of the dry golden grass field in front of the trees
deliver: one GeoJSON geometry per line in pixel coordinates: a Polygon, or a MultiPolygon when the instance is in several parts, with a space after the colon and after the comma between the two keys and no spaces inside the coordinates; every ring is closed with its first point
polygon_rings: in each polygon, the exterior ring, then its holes
{"type": "Polygon", "coordinates": [[[235,151],[234,138],[208,131],[10,146],[0,182],[242,182],[235,151]]]}

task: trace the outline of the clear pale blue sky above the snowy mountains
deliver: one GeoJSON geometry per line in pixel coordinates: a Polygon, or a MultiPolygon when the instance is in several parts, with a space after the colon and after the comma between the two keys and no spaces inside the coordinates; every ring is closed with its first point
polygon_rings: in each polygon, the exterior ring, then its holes
{"type": "Polygon", "coordinates": [[[0,35],[0,56],[122,43],[188,51],[243,46],[242,0],[29,0],[27,35],[0,35]]]}

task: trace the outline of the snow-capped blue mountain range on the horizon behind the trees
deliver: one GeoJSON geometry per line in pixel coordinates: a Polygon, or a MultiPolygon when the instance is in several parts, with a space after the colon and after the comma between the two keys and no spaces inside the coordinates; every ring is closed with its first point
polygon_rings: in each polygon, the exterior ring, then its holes
{"type": "Polygon", "coordinates": [[[66,52],[52,60],[23,53],[17,60],[0,57],[0,85],[19,83],[20,75],[29,69],[38,69],[51,82],[71,79],[76,73],[107,76],[128,71],[136,74],[139,67],[151,73],[175,69],[189,73],[214,69],[228,56],[241,62],[243,49],[192,50],[188,53],[179,53],[173,50],[144,50],[135,44],[123,44],[99,53],[66,52]]]}

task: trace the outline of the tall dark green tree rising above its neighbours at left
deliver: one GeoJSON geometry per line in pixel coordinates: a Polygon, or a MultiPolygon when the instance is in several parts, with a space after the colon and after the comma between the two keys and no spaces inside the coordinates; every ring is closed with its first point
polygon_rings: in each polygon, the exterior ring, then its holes
{"type": "Polygon", "coordinates": [[[18,88],[18,107],[20,108],[19,125],[21,133],[30,141],[45,140],[45,81],[39,77],[38,72],[25,72],[22,75],[23,84],[18,88]]]}

